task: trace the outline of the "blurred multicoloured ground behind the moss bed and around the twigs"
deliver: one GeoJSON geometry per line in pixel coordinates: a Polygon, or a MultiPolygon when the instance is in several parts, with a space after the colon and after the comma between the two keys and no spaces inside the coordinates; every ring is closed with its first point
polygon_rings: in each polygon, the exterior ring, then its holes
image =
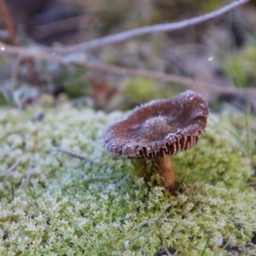
{"type": "MultiPolygon", "coordinates": [[[[220,0],[1,0],[0,42],[20,47],[74,45],[152,24],[190,19],[231,1],[220,0]],[[3,9],[5,5],[6,10],[3,9]],[[6,22],[6,12],[10,16],[6,22]],[[9,29],[8,29],[9,23],[9,29]],[[12,39],[10,23],[17,42],[12,39]]],[[[86,60],[147,69],[200,83],[256,88],[256,1],[198,26],[140,36],[84,53],[86,60]]],[[[106,112],[131,109],[186,90],[147,77],[99,72],[79,65],[0,54],[0,104],[28,108],[70,100],[106,112]]],[[[212,111],[255,112],[256,99],[195,86],[212,111]]],[[[238,92],[238,91],[237,91],[238,92]]]]}

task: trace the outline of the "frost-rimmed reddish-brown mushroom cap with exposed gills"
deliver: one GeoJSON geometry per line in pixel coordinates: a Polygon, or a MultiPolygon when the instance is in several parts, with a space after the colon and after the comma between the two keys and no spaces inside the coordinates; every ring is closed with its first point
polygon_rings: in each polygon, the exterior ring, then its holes
{"type": "Polygon", "coordinates": [[[131,159],[158,159],[189,150],[204,134],[209,108],[193,91],[172,99],[152,100],[135,108],[104,131],[108,154],[131,159]]]}

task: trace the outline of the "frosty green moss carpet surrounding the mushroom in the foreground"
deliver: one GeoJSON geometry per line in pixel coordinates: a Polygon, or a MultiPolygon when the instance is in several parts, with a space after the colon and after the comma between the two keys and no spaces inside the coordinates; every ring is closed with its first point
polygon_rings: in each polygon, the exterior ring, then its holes
{"type": "Polygon", "coordinates": [[[173,157],[181,184],[170,196],[100,146],[106,125],[124,113],[65,104],[33,122],[36,111],[0,111],[0,172],[20,159],[0,178],[0,255],[156,255],[168,246],[178,255],[227,255],[228,245],[250,243],[252,168],[228,118],[211,115],[198,147],[173,157]]]}

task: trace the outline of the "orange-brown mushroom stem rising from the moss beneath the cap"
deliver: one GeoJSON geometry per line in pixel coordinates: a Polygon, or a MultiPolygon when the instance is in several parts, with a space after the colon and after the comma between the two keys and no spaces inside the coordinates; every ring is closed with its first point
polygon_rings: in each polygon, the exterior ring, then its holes
{"type": "Polygon", "coordinates": [[[175,172],[170,156],[161,157],[157,160],[159,166],[159,173],[163,177],[164,186],[166,189],[175,187],[175,172]]]}

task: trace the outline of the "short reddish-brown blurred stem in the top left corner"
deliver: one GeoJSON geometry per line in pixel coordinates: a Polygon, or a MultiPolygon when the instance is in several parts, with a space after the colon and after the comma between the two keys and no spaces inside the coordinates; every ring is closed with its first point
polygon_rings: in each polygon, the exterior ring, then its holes
{"type": "Polygon", "coordinates": [[[10,33],[10,37],[12,40],[13,45],[19,45],[19,41],[17,39],[15,26],[12,21],[12,17],[10,16],[9,10],[6,6],[6,3],[4,0],[0,0],[0,11],[3,15],[4,23],[6,24],[6,28],[8,29],[10,33]]]}

